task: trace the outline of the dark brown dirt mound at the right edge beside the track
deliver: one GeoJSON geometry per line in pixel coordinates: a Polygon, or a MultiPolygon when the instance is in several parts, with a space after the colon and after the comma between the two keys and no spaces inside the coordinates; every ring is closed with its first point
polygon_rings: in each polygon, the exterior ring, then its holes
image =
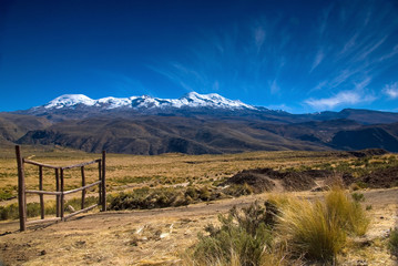
{"type": "Polygon", "coordinates": [[[364,175],[361,182],[371,188],[389,188],[398,186],[398,167],[388,167],[364,175]]]}

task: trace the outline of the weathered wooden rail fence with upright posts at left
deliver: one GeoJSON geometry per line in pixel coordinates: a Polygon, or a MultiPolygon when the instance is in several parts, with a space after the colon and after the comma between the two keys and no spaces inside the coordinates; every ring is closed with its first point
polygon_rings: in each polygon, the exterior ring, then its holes
{"type": "Polygon", "coordinates": [[[38,224],[50,221],[65,221],[76,214],[88,212],[96,206],[102,206],[102,212],[106,211],[106,184],[105,184],[105,152],[102,152],[102,158],[91,162],[80,163],[70,166],[53,166],[49,164],[38,163],[21,156],[20,146],[16,146],[17,165],[18,165],[18,204],[19,204],[19,221],[20,229],[25,231],[27,225],[38,224]],[[25,190],[24,182],[24,164],[32,164],[39,167],[39,191],[25,190]],[[98,164],[99,180],[92,184],[85,184],[84,166],[98,164]],[[71,168],[81,170],[82,186],[71,191],[64,191],[64,171],[71,168]],[[55,176],[55,192],[43,191],[43,168],[52,168],[55,176]],[[99,186],[99,203],[84,208],[85,191],[90,187],[99,186]],[[82,192],[81,209],[71,214],[64,215],[64,196],[71,193],[82,192]],[[41,219],[27,221],[27,194],[38,194],[40,196],[40,214],[41,219]],[[57,197],[55,212],[57,217],[44,218],[44,195],[54,195],[57,197]]]}

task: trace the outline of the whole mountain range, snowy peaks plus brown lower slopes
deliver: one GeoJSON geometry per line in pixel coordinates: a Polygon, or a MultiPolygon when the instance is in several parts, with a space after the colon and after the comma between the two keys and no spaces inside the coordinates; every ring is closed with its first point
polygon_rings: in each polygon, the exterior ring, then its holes
{"type": "Polygon", "coordinates": [[[346,109],[290,114],[218,94],[92,100],[82,94],[0,113],[0,144],[86,152],[218,154],[282,150],[398,152],[398,113],[346,109]]]}

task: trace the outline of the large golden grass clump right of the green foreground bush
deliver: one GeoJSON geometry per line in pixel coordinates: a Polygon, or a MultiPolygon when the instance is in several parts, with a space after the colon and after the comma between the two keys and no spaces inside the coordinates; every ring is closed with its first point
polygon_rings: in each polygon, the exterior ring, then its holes
{"type": "Polygon", "coordinates": [[[324,201],[290,198],[284,203],[277,231],[293,255],[333,260],[347,235],[364,235],[368,225],[360,204],[341,188],[333,188],[324,201]]]}

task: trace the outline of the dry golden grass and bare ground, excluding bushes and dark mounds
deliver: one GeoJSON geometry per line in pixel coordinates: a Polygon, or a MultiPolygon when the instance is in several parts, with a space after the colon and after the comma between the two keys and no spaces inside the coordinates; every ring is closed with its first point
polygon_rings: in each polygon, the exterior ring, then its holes
{"type": "MultiPolygon", "coordinates": [[[[63,147],[22,146],[24,157],[67,166],[92,161],[101,154],[88,154],[63,147]]],[[[384,161],[395,155],[373,158],[384,161]]],[[[253,152],[224,155],[164,154],[156,156],[106,155],[106,183],[111,195],[132,192],[140,187],[215,186],[239,171],[271,167],[274,170],[317,168],[322,165],[354,164],[357,158],[341,156],[338,152],[253,152]]],[[[0,206],[16,203],[17,163],[12,146],[0,151],[0,206]]],[[[363,167],[358,165],[358,167],[363,167]]],[[[38,190],[38,167],[27,166],[27,187],[38,190]]],[[[86,170],[88,182],[98,178],[96,166],[86,170]]],[[[44,171],[44,190],[54,190],[54,174],[44,171]]],[[[67,172],[65,190],[79,187],[80,171],[67,172]]],[[[96,195],[96,188],[89,194],[96,195]]],[[[390,228],[397,226],[397,188],[360,190],[361,204],[368,206],[371,217],[368,234],[350,241],[339,255],[340,265],[396,265],[386,243],[390,228]]],[[[274,192],[276,193],[276,192],[274,192]]],[[[280,192],[278,192],[280,193],[280,192]]],[[[284,193],[284,192],[282,192],[284,193]]],[[[289,192],[288,196],[313,198],[324,192],[289,192]]],[[[94,209],[65,223],[29,226],[19,233],[18,221],[0,222],[0,262],[9,265],[177,265],[184,250],[197,242],[197,233],[217,215],[236,205],[247,206],[256,200],[264,201],[271,193],[203,202],[182,207],[141,211],[94,209]]],[[[70,197],[78,197],[80,193],[70,197]]],[[[47,204],[54,198],[47,196],[47,204]]],[[[28,202],[39,202],[29,195],[28,202]]]]}

